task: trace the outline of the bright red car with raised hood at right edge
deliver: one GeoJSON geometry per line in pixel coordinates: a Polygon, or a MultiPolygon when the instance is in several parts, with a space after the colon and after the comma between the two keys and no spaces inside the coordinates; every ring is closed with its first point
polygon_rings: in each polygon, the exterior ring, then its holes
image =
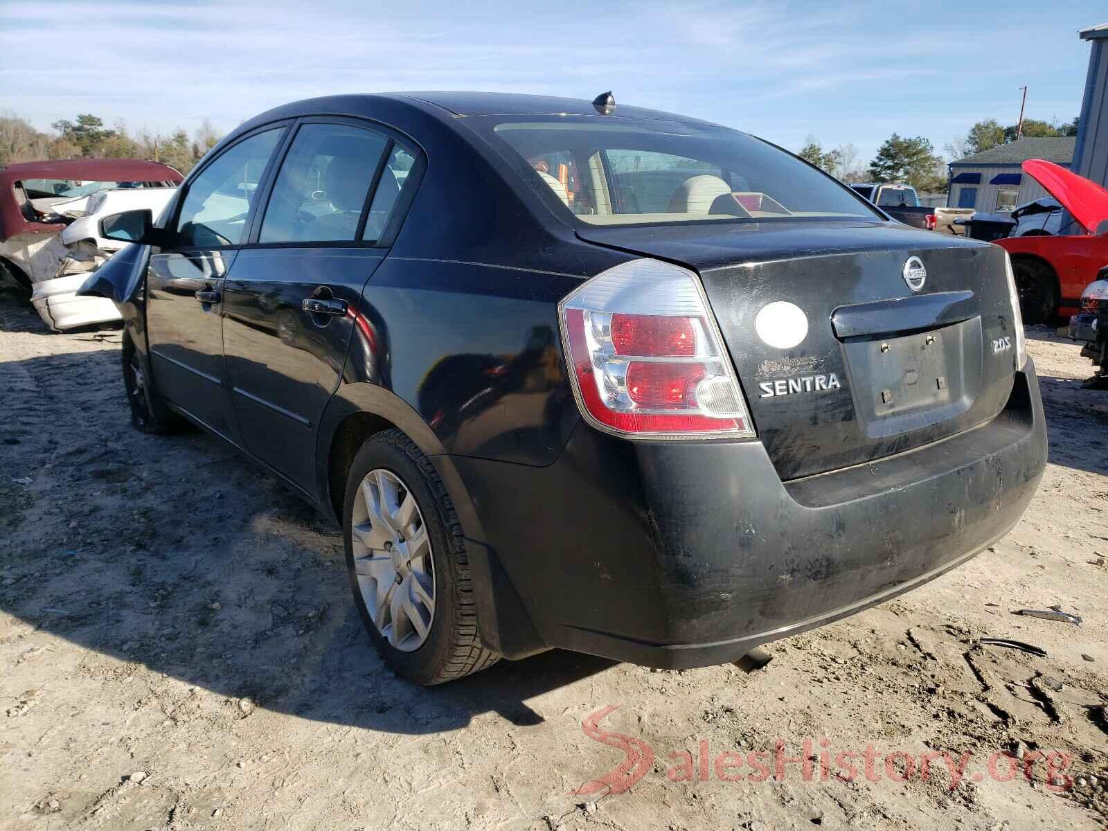
{"type": "Polygon", "coordinates": [[[1108,191],[1050,162],[1033,158],[1024,172],[1050,192],[1085,232],[1079,236],[1023,236],[996,242],[1012,255],[1025,324],[1068,317],[1081,291],[1108,265],[1108,191]]]}

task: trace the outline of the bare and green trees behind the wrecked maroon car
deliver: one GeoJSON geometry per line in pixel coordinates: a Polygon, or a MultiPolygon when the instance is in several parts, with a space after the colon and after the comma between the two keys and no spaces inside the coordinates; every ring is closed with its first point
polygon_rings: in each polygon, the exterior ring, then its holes
{"type": "Polygon", "coordinates": [[[50,126],[53,132],[43,133],[14,113],[0,114],[0,166],[50,158],[148,158],[186,174],[222,137],[207,119],[192,136],[179,127],[167,134],[131,132],[122,121],[109,129],[91,113],[50,126]]]}

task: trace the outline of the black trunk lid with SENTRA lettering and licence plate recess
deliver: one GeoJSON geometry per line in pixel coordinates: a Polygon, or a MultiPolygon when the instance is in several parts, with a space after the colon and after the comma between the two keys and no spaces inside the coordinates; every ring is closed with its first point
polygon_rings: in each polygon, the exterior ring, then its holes
{"type": "Polygon", "coordinates": [[[577,233],[699,273],[783,480],[954,435],[994,418],[1010,393],[1015,339],[995,246],[890,223],[577,233]],[[913,257],[926,269],[919,290],[905,278],[913,257]],[[758,315],[773,302],[807,317],[794,346],[781,347],[772,326],[759,334],[758,315]]]}

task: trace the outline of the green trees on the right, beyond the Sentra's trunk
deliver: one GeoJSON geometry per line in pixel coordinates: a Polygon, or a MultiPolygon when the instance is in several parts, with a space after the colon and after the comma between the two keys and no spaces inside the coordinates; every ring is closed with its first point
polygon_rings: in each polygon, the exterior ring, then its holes
{"type": "MultiPolygon", "coordinates": [[[[1077,121],[1025,119],[1020,137],[1077,135],[1077,121]]],[[[965,136],[947,142],[943,150],[948,160],[955,162],[1014,142],[1016,132],[1015,124],[1005,126],[996,119],[983,119],[970,127],[965,136]]],[[[923,136],[910,137],[893,133],[866,167],[858,163],[858,148],[853,144],[825,151],[812,135],[808,136],[797,155],[843,182],[906,182],[920,193],[944,193],[947,187],[946,160],[923,136]]]]}

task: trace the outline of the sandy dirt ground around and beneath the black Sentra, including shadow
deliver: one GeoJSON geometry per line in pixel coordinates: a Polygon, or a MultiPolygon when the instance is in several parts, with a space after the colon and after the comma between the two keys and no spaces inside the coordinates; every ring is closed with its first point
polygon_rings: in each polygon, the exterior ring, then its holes
{"type": "Polygon", "coordinates": [[[132,430],[117,331],[0,297],[0,829],[1104,828],[1108,393],[1029,336],[1050,463],[968,564],[749,675],[552,652],[419,689],[336,530],[132,430]],[[1010,614],[1051,605],[1084,623],[1010,614]]]}

